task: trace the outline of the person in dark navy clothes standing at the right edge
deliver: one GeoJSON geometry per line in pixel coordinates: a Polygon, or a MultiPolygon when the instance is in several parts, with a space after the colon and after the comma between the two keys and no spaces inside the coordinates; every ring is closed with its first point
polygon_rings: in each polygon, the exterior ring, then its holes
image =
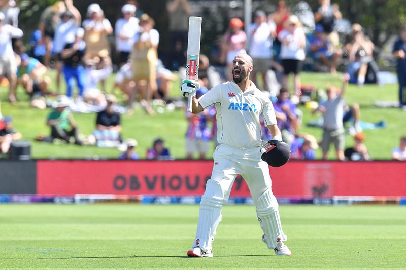
{"type": "Polygon", "coordinates": [[[406,25],[400,31],[398,40],[393,45],[393,57],[397,60],[397,80],[399,83],[399,106],[406,109],[406,25]]]}

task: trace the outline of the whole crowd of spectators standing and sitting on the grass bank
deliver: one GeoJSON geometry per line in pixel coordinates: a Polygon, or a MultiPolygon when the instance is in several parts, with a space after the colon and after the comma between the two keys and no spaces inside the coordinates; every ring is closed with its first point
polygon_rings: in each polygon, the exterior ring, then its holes
{"type": "MultiPolygon", "coordinates": [[[[191,7],[187,0],[170,0],[166,9],[170,68],[179,70],[182,78],[191,7]]],[[[18,3],[16,6],[10,0],[9,5],[0,7],[0,10],[0,72],[9,82],[9,102],[18,102],[16,87],[21,85],[33,107],[53,107],[46,120],[50,134],[37,139],[121,147],[125,151],[120,159],[138,159],[137,141],[123,138],[125,126],[121,123],[120,113],[131,112],[139,104],[147,114],[154,114],[153,99],[163,104],[170,101],[172,82],[179,80],[158,59],[160,33],[154,29],[155,20],[138,8],[137,1],[128,0],[121,7],[122,16],[113,28],[99,4],[89,5],[86,18],[82,18],[72,0],[57,1],[43,11],[38,29],[32,32],[26,50],[18,42],[24,34],[18,28],[18,3]],[[109,42],[112,35],[115,36],[114,48],[109,42]],[[105,81],[113,73],[113,54],[118,59],[118,70],[114,85],[107,90],[105,81]],[[49,69],[56,70],[55,78],[50,78],[49,69]],[[64,88],[62,78],[65,80],[65,93],[61,92],[64,88]],[[51,84],[52,81],[55,84],[51,84]],[[51,85],[55,85],[56,89],[50,89],[51,85]],[[117,89],[122,93],[123,102],[117,101],[117,89]],[[56,101],[52,101],[53,96],[56,96],[56,101]],[[94,131],[88,138],[80,138],[73,111],[97,113],[94,131]]],[[[240,18],[231,18],[219,44],[219,62],[226,66],[226,72],[219,72],[210,65],[207,56],[201,55],[201,88],[197,94],[203,95],[211,87],[230,80],[233,58],[240,52],[248,52],[255,67],[252,81],[269,92],[283,140],[292,148],[292,158],[315,159],[315,151],[320,146],[322,158],[327,159],[329,146],[333,143],[339,160],[369,160],[363,144],[365,135],[360,126],[360,107],[356,103],[347,105],[344,94],[348,83],[360,87],[378,83],[374,44],[357,23],[352,25],[351,34],[343,43],[343,38],[334,30],[335,21],[342,19],[342,14],[339,6],[329,0],[320,0],[319,7],[312,14],[314,27],[309,28],[300,16],[291,13],[285,1],[280,0],[274,13],[254,11],[253,23],[247,33],[240,18]],[[344,62],[346,67],[343,67],[344,62]],[[323,135],[319,142],[311,134],[300,132],[303,114],[298,105],[306,102],[303,100],[306,86],[301,85],[300,72],[309,63],[316,71],[335,74],[341,68],[345,73],[342,89],[326,87],[326,98],[319,96],[317,105],[313,106],[313,112],[321,112],[323,118],[323,135]],[[292,73],[293,81],[289,83],[292,73]],[[351,130],[355,144],[345,150],[346,122],[352,123],[348,131],[351,130]]],[[[406,78],[405,51],[406,28],[401,31],[393,48],[393,56],[398,63],[399,100],[403,107],[406,106],[406,83],[403,82],[406,78]]],[[[207,157],[210,142],[216,139],[215,108],[197,115],[186,112],[185,116],[185,158],[207,157]]],[[[1,149],[5,152],[9,147],[7,144],[19,139],[21,134],[11,128],[11,118],[1,118],[0,113],[0,119],[0,125],[4,126],[0,126],[1,149]]],[[[264,140],[269,139],[266,129],[262,135],[264,140]]],[[[394,159],[404,158],[405,143],[402,138],[400,148],[394,150],[394,159]]],[[[154,140],[146,157],[173,158],[161,138],[154,140]]]]}

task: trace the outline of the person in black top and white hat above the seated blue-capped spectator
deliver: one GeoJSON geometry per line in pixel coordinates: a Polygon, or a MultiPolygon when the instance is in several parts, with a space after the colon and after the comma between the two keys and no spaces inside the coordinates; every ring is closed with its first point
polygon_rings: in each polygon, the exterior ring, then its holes
{"type": "Polygon", "coordinates": [[[342,18],[339,5],[331,5],[330,0],[320,0],[320,7],[314,14],[315,23],[323,26],[328,40],[337,49],[340,45],[339,34],[334,31],[335,20],[342,18]]]}

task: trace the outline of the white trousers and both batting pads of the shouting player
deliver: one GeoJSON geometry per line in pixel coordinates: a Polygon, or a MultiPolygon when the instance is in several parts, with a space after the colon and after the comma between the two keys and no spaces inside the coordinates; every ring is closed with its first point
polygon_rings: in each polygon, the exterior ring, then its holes
{"type": "Polygon", "coordinates": [[[264,234],[269,236],[268,248],[275,248],[278,237],[286,240],[282,232],[278,202],[271,190],[269,167],[261,160],[260,148],[235,148],[220,144],[213,159],[212,178],[207,181],[205,194],[201,197],[196,238],[192,248],[198,246],[202,251],[211,253],[216,229],[221,221],[221,209],[239,174],[247,182],[258,221],[264,234]]]}

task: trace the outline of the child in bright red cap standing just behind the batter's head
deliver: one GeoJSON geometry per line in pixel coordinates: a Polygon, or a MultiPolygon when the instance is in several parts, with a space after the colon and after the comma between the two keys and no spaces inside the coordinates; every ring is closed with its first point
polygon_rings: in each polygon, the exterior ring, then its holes
{"type": "Polygon", "coordinates": [[[222,62],[227,64],[228,79],[231,81],[232,60],[239,53],[245,53],[245,42],[247,35],[243,30],[244,23],[239,18],[232,18],[228,25],[229,29],[224,35],[222,43],[222,62]]]}

